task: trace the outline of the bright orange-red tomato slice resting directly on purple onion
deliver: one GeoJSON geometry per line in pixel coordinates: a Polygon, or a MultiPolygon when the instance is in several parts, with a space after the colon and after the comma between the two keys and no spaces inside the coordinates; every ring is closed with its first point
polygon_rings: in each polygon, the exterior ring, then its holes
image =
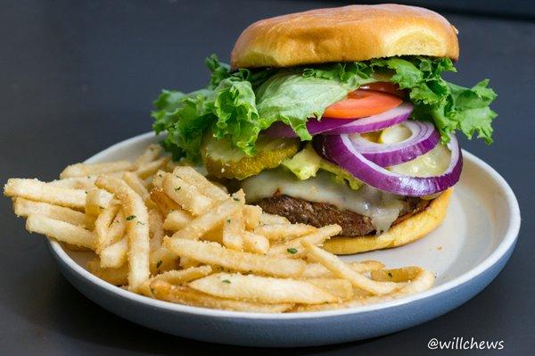
{"type": "Polygon", "coordinates": [[[351,92],[345,99],[333,103],[325,109],[324,118],[329,119],[358,119],[389,111],[403,100],[375,90],[358,89],[351,92]]]}

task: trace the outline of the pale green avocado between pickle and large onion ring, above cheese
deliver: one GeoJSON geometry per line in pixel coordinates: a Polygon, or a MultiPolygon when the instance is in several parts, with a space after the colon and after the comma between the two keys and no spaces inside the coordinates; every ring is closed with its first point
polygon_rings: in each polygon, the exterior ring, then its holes
{"type": "Polygon", "coordinates": [[[364,184],[342,167],[325,161],[316,153],[310,144],[307,144],[305,148],[292,158],[283,161],[282,165],[292,171],[300,180],[316,177],[317,170],[326,170],[333,173],[335,181],[338,183],[347,183],[351,189],[358,190],[364,184]]]}

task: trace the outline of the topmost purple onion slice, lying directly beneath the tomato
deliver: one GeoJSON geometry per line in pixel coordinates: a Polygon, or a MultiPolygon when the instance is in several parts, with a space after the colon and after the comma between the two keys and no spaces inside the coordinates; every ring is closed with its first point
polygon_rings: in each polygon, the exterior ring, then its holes
{"type": "MultiPolygon", "coordinates": [[[[341,134],[363,134],[366,132],[377,131],[383,128],[390,128],[400,122],[406,121],[413,111],[413,105],[408,102],[401,103],[399,106],[382,112],[377,115],[368,116],[367,118],[355,120],[328,119],[322,120],[309,119],[307,129],[310,135],[341,135],[341,134]]],[[[297,137],[293,129],[277,121],[269,128],[262,132],[270,137],[297,137]]]]}

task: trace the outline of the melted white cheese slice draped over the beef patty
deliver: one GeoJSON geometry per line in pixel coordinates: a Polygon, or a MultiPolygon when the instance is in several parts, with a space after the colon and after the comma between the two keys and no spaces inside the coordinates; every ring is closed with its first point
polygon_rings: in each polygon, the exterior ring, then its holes
{"type": "Polygon", "coordinates": [[[341,210],[370,217],[378,233],[390,228],[403,209],[399,195],[366,185],[353,190],[334,181],[331,173],[322,170],[318,171],[316,177],[306,180],[299,180],[282,168],[264,170],[258,176],[244,179],[242,188],[248,202],[282,194],[309,202],[330,203],[341,210]]]}

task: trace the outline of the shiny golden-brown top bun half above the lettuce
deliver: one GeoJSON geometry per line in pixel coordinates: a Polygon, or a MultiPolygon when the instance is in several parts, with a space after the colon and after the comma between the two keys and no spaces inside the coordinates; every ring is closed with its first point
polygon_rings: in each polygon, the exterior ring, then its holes
{"type": "Polygon", "coordinates": [[[457,61],[457,29],[436,12],[399,4],[297,12],[245,29],[235,43],[231,64],[290,67],[410,54],[457,61]]]}

